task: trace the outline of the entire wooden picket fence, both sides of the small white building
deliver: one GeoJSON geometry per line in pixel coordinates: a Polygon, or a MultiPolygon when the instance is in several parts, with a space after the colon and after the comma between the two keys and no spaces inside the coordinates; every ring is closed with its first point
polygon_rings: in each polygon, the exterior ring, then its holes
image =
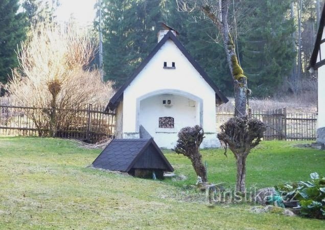
{"type": "MultiPolygon", "coordinates": [[[[48,135],[49,110],[0,99],[0,136],[48,135]]],[[[56,112],[58,137],[94,143],[115,133],[115,113],[105,112],[104,106],[88,104],[74,109],[56,109],[56,112]]],[[[286,108],[267,111],[249,109],[248,114],[266,124],[264,140],[316,140],[316,114],[287,113],[286,108]]],[[[233,116],[233,110],[217,108],[217,131],[233,116]]]]}

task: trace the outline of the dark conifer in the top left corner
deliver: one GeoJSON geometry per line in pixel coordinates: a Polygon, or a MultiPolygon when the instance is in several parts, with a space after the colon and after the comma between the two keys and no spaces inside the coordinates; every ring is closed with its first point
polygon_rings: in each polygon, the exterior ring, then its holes
{"type": "Polygon", "coordinates": [[[11,69],[17,66],[15,50],[24,40],[26,20],[24,13],[17,13],[18,0],[0,1],[0,82],[8,81],[11,69]]]}

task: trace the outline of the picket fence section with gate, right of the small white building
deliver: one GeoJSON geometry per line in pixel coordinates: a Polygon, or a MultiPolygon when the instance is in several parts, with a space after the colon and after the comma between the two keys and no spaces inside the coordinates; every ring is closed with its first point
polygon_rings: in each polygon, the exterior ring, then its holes
{"type": "MultiPolygon", "coordinates": [[[[264,140],[316,140],[317,115],[314,113],[287,113],[286,108],[273,110],[248,110],[249,116],[267,126],[264,140]]],[[[229,118],[233,110],[217,109],[217,129],[229,118]]]]}

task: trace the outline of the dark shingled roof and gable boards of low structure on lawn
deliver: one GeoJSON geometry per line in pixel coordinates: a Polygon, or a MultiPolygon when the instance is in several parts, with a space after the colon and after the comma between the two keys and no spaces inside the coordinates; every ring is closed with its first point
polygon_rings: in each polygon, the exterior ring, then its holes
{"type": "Polygon", "coordinates": [[[92,166],[112,171],[129,172],[133,166],[142,165],[145,168],[162,169],[173,172],[173,167],[158,148],[153,139],[114,139],[101,154],[94,160],[92,166]],[[150,162],[144,157],[154,156],[155,162],[150,162]],[[145,161],[145,164],[139,163],[145,161]],[[150,164],[151,163],[151,164],[150,164]]]}

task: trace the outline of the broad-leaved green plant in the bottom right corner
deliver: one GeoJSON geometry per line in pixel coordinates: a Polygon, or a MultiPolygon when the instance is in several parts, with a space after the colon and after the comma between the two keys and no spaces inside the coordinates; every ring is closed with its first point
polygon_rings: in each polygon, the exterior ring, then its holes
{"type": "Polygon", "coordinates": [[[310,174],[310,181],[299,181],[275,186],[283,199],[298,200],[300,214],[306,217],[325,219],[325,177],[310,174]]]}

